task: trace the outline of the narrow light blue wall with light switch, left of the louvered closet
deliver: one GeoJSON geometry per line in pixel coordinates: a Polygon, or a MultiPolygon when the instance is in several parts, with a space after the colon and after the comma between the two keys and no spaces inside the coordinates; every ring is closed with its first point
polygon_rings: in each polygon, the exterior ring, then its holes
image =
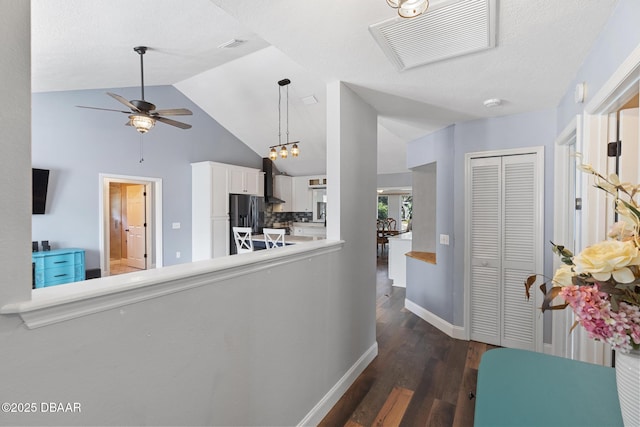
{"type": "MultiPolygon", "coordinates": [[[[449,323],[453,323],[454,294],[452,283],[454,228],[453,162],[454,126],[410,142],[407,146],[407,166],[419,167],[436,163],[436,236],[448,234],[449,246],[436,244],[436,264],[407,258],[407,299],[449,323]]],[[[419,187],[431,183],[413,183],[414,195],[419,187]]],[[[415,211],[414,211],[415,214],[415,211]]],[[[415,236],[414,236],[415,238],[415,236]]]]}

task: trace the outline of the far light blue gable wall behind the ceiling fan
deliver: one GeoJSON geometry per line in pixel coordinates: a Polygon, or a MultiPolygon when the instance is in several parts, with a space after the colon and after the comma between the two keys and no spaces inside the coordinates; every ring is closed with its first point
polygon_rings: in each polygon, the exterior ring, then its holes
{"type": "MultiPolygon", "coordinates": [[[[262,159],[172,86],[145,88],[145,98],[160,109],[185,107],[193,116],[176,119],[193,125],[182,130],[163,123],[140,136],[125,126],[127,115],[76,105],[126,109],[107,90],[36,93],[32,97],[32,163],[51,169],[45,215],[32,216],[32,240],[54,247],[79,247],[87,268],[99,261],[98,174],[161,178],[164,265],[191,261],[191,166],[214,160],[262,168],[262,159]],[[123,108],[124,107],[124,108],[123,108]],[[140,139],[144,162],[140,163],[140,139]],[[174,230],[171,224],[179,222],[174,230]],[[176,251],[181,258],[176,259],[176,251]]],[[[138,99],[139,88],[108,89],[138,99]]]]}

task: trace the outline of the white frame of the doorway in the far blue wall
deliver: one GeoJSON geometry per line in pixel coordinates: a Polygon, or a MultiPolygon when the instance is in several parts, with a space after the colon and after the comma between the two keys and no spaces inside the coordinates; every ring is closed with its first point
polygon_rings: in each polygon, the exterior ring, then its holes
{"type": "Polygon", "coordinates": [[[100,270],[103,277],[111,275],[110,260],[110,234],[109,234],[109,184],[142,184],[145,186],[147,227],[147,269],[159,268],[162,260],[162,179],[130,175],[114,175],[101,173],[98,176],[98,222],[100,245],[100,270]]]}

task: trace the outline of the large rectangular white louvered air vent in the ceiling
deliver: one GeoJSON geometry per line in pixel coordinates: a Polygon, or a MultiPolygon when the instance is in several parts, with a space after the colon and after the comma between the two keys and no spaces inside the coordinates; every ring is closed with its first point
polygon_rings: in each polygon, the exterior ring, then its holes
{"type": "Polygon", "coordinates": [[[459,0],[433,5],[416,18],[373,24],[369,31],[402,71],[492,48],[495,27],[495,0],[459,0]]]}

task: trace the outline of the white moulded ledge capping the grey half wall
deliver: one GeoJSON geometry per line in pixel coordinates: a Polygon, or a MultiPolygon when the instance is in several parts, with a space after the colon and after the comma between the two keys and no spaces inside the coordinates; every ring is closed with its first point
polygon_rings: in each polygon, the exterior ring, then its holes
{"type": "Polygon", "coordinates": [[[34,290],[29,301],[1,307],[0,314],[18,314],[27,328],[34,329],[269,270],[335,252],[342,246],[341,241],[317,240],[277,251],[258,251],[92,279],[91,286],[87,286],[86,281],[51,286],[34,290]]]}

